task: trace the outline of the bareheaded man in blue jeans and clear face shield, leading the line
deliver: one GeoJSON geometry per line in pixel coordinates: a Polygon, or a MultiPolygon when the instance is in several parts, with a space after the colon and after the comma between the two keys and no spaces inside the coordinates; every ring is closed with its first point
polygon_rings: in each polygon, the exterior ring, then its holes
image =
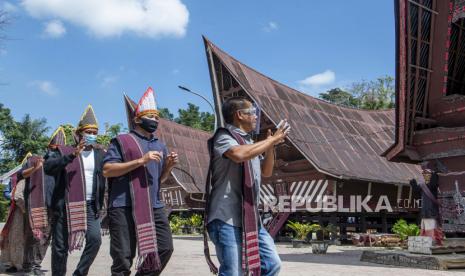
{"type": "Polygon", "coordinates": [[[219,275],[278,275],[281,261],[260,221],[257,206],[261,177],[272,175],[274,146],[284,141],[289,125],[280,124],[274,133],[268,130],[266,139],[254,143],[250,133],[257,125],[257,110],[249,100],[227,99],[222,113],[226,126],[208,141],[210,171],[205,216],[206,230],[220,262],[219,271],[210,259],[205,238],[207,263],[219,275]]]}

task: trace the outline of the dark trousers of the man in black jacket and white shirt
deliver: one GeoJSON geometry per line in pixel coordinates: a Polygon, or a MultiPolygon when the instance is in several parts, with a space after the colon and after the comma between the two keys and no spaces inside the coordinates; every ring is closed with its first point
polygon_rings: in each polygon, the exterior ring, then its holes
{"type": "MultiPolygon", "coordinates": [[[[68,261],[68,223],[66,210],[57,212],[54,217],[52,230],[52,275],[66,275],[66,263],[68,261]]],[[[93,204],[87,202],[87,232],[86,246],[82,252],[81,259],[73,275],[87,275],[89,268],[97,256],[102,237],[100,234],[100,220],[94,211],[93,204]]]]}

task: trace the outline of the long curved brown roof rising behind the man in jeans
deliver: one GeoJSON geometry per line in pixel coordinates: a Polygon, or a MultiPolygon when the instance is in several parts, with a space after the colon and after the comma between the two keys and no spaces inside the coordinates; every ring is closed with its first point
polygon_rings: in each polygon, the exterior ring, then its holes
{"type": "Polygon", "coordinates": [[[273,123],[289,120],[290,142],[318,171],[384,183],[420,177],[417,166],[380,156],[394,140],[394,110],[359,110],[316,99],[257,72],[207,39],[205,46],[273,123]]]}

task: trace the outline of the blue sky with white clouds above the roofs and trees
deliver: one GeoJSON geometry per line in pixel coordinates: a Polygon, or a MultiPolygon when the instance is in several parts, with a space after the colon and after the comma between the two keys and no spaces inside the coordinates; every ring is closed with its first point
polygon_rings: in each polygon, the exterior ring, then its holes
{"type": "Polygon", "coordinates": [[[392,0],[23,0],[0,50],[0,102],[16,119],[76,125],[87,104],[125,123],[123,92],[148,86],[173,113],[211,99],[201,35],[260,72],[310,95],[394,75],[392,0]],[[122,2],[126,2],[123,6],[122,2]]]}

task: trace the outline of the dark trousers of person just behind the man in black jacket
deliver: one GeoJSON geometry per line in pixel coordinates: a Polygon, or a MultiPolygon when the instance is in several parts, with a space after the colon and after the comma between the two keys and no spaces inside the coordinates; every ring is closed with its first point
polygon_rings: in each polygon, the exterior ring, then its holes
{"type": "Polygon", "coordinates": [[[47,253],[47,248],[50,244],[50,222],[49,220],[49,227],[46,233],[46,240],[43,244],[34,237],[32,233],[31,224],[29,222],[29,215],[26,213],[24,214],[24,237],[25,237],[25,244],[24,244],[24,260],[23,260],[23,269],[25,271],[29,270],[40,270],[42,261],[45,258],[45,254],[47,253]]]}

